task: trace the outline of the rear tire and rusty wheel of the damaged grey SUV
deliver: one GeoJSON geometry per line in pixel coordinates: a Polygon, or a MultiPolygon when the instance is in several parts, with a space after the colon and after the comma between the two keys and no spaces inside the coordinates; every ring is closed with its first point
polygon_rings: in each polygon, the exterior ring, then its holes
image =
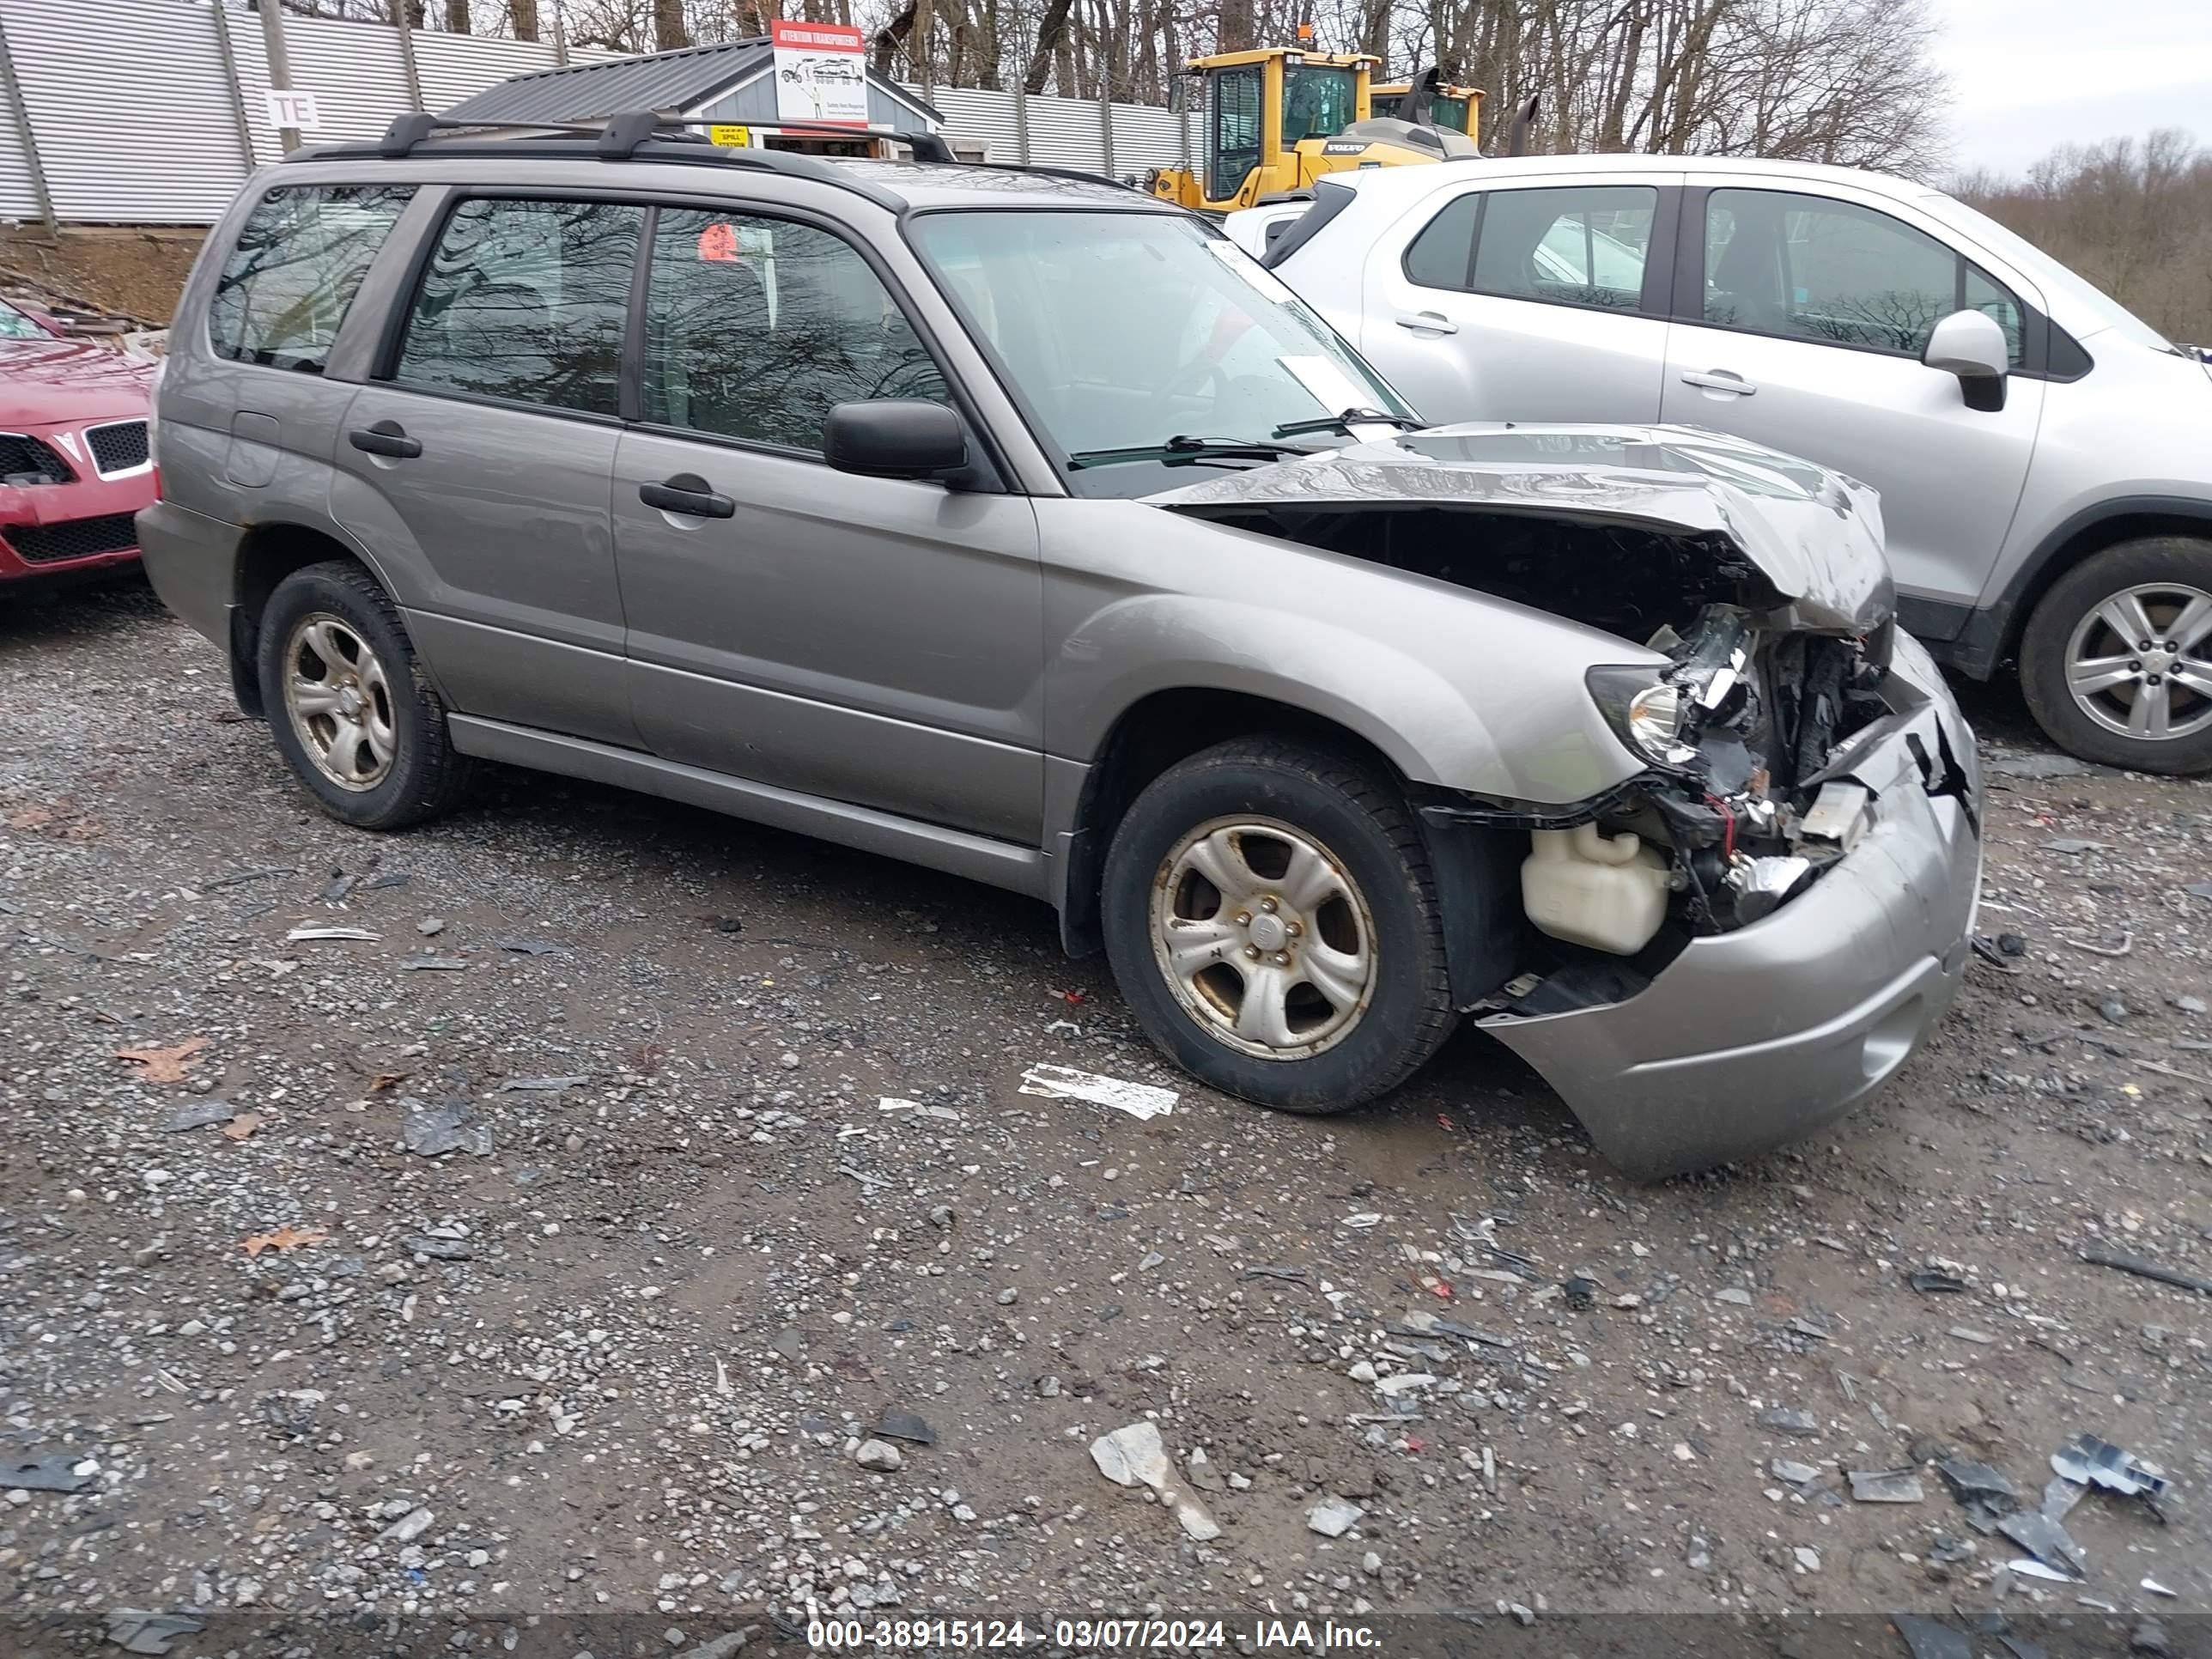
{"type": "Polygon", "coordinates": [[[257,657],[276,750],[332,818],[405,830],[467,794],[473,768],[453,750],[445,701],[392,595],[358,564],[310,564],[279,582],[261,613],[257,657]],[[294,666],[301,672],[288,677],[294,666]],[[332,690],[319,695],[325,684],[332,690]],[[358,714],[327,708],[347,692],[345,708],[358,714]]]}

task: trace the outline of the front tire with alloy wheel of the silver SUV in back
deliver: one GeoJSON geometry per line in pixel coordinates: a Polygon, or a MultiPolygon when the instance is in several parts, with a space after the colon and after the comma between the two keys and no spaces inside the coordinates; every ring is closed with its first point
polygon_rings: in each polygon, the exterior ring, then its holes
{"type": "Polygon", "coordinates": [[[2212,542],[2119,542],[2062,575],[2020,637],[2020,684],[2035,723],[2084,761],[2130,772],[2212,770],[2212,542]],[[2152,653],[2141,650],[2141,637],[2115,637],[2130,599],[2135,622],[2150,624],[2152,653]],[[2183,646],[2181,672],[2172,672],[2170,641],[2183,646]],[[2079,675],[2068,668],[2084,661],[2110,664],[2104,672],[2119,681],[2077,697],[2079,675]],[[2172,734],[2150,737],[2137,721],[2154,723],[2161,703],[2172,734]]]}

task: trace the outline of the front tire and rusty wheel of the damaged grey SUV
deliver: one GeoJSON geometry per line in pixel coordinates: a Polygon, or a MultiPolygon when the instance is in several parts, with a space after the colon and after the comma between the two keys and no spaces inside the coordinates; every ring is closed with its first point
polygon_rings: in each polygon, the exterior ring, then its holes
{"type": "Polygon", "coordinates": [[[1237,739],[1170,768],[1115,827],[1099,898],[1137,1022],[1228,1095],[1340,1113],[1458,1024],[1420,827],[1387,779],[1325,750],[1237,739]],[[1172,971],[1170,938],[1203,967],[1172,971]]]}

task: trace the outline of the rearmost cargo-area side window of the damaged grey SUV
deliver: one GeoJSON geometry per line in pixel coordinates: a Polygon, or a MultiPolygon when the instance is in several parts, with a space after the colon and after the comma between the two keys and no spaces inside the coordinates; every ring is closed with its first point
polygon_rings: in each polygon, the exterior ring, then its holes
{"type": "Polygon", "coordinates": [[[217,356],[321,374],[411,188],[276,186],[239,230],[208,305],[217,356]]]}

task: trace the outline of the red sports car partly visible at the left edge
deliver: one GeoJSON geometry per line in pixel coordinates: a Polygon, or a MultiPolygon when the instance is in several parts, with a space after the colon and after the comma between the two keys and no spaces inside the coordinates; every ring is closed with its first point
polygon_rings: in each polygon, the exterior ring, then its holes
{"type": "Polygon", "coordinates": [[[137,557],[153,372],[0,301],[0,584],[137,557]]]}

